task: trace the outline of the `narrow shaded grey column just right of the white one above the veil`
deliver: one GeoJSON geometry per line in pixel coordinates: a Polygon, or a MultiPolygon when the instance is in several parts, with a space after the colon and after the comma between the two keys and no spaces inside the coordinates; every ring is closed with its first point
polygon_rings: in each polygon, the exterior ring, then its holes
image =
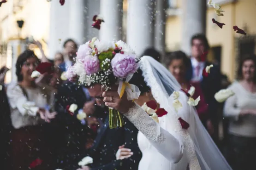
{"type": "Polygon", "coordinates": [[[155,11],[155,49],[165,55],[166,0],[156,1],[155,11]]]}

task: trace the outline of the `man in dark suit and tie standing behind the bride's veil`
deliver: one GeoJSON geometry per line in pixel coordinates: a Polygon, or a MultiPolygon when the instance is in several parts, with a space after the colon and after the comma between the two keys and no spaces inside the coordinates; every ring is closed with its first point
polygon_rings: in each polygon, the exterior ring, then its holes
{"type": "Polygon", "coordinates": [[[203,52],[209,50],[208,40],[204,34],[196,34],[191,38],[191,69],[188,70],[188,79],[192,82],[200,82],[206,102],[208,103],[209,116],[214,126],[212,135],[215,142],[219,138],[219,120],[218,120],[218,103],[214,99],[214,94],[221,88],[220,67],[214,63],[204,61],[203,52]],[[202,71],[206,66],[213,64],[208,77],[202,76],[202,71]]]}

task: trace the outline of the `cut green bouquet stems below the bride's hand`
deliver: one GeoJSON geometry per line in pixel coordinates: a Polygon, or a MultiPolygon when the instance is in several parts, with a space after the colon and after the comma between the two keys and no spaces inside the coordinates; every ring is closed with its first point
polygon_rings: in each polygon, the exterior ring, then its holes
{"type": "Polygon", "coordinates": [[[109,128],[118,128],[118,127],[123,127],[125,125],[123,116],[119,111],[113,109],[113,108],[108,108],[109,110],[109,128]]]}

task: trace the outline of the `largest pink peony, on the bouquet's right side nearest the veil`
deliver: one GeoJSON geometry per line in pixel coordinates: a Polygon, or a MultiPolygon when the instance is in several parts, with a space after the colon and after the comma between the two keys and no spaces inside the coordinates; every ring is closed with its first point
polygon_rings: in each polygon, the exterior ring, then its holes
{"type": "Polygon", "coordinates": [[[134,74],[138,69],[135,55],[116,54],[111,61],[114,76],[125,79],[128,74],[134,74]]]}

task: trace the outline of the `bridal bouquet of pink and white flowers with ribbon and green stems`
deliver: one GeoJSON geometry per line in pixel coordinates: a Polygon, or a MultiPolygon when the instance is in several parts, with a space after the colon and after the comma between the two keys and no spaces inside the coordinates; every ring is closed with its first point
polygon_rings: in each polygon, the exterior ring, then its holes
{"type": "MultiPolygon", "coordinates": [[[[120,98],[124,92],[128,100],[137,99],[140,91],[128,82],[139,68],[139,60],[131,47],[119,40],[106,42],[93,38],[81,45],[77,51],[76,63],[68,68],[65,76],[80,85],[90,86],[100,83],[107,91],[111,85],[118,84],[120,98]]],[[[122,115],[109,108],[109,127],[124,125],[122,115]]]]}

